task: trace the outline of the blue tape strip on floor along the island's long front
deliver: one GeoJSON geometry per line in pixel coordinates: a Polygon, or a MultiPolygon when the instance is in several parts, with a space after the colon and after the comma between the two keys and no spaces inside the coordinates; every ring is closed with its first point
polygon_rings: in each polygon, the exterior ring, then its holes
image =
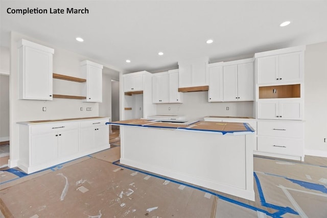
{"type": "MultiPolygon", "coordinates": [[[[217,194],[217,193],[215,193],[215,192],[212,192],[212,191],[209,191],[209,190],[206,190],[206,189],[200,188],[200,187],[196,187],[196,186],[193,186],[193,185],[189,185],[189,184],[186,184],[186,183],[182,183],[182,182],[179,182],[179,181],[175,181],[175,180],[173,180],[173,179],[169,179],[169,178],[165,178],[165,177],[162,177],[162,176],[158,176],[158,175],[154,175],[154,174],[151,174],[151,173],[147,173],[147,172],[141,171],[141,170],[139,170],[139,169],[135,169],[135,168],[132,168],[132,167],[128,167],[128,166],[125,166],[125,165],[119,164],[119,163],[117,163],[117,162],[119,162],[119,160],[114,161],[112,164],[117,165],[117,166],[121,166],[121,167],[124,167],[124,168],[127,168],[127,169],[130,169],[131,171],[137,171],[137,172],[139,172],[139,173],[143,173],[143,174],[145,174],[145,175],[149,175],[149,176],[152,176],[152,177],[156,177],[156,178],[158,178],[158,179],[168,180],[168,181],[174,182],[174,183],[179,184],[179,185],[185,185],[185,186],[188,186],[188,187],[190,187],[190,188],[194,188],[194,189],[197,189],[197,190],[200,190],[200,191],[203,191],[203,192],[210,193],[211,195],[216,196],[216,197],[218,197],[219,199],[224,200],[224,201],[227,201],[227,202],[229,202],[229,203],[237,204],[237,205],[239,205],[239,206],[242,206],[242,207],[248,208],[248,209],[250,209],[250,210],[260,211],[260,212],[263,212],[263,213],[265,213],[265,214],[267,214],[267,215],[269,215],[269,216],[272,216],[272,217],[282,218],[281,216],[276,216],[276,215],[274,215],[273,213],[270,213],[270,212],[268,212],[268,211],[266,211],[266,210],[263,210],[263,209],[261,209],[261,208],[257,208],[257,207],[254,207],[254,206],[251,206],[251,205],[245,204],[245,203],[243,203],[243,202],[239,202],[239,201],[236,201],[236,200],[233,200],[233,199],[227,198],[227,197],[225,197],[225,196],[221,196],[221,195],[219,195],[219,194],[217,194]]],[[[285,213],[285,212],[284,212],[284,213],[285,213]]],[[[283,214],[284,214],[284,213],[283,213],[283,214]]]]}

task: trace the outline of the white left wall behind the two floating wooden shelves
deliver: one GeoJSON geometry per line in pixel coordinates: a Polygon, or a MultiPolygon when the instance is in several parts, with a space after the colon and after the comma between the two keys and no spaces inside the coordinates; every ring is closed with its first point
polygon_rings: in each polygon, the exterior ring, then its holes
{"type": "MultiPolygon", "coordinates": [[[[10,161],[9,166],[17,165],[18,160],[18,125],[17,122],[42,119],[61,119],[99,116],[99,103],[83,103],[82,100],[53,99],[53,101],[18,100],[18,68],[17,68],[17,41],[21,38],[52,47],[55,50],[53,56],[53,71],[57,74],[80,77],[80,61],[91,60],[87,57],[69,52],[59,47],[54,47],[48,42],[42,42],[29,36],[19,33],[11,33],[11,54],[10,54],[10,161]],[[46,111],[42,111],[46,107],[46,111]],[[84,110],[80,111],[80,107],[84,110]],[[91,107],[91,111],[86,111],[91,107]]],[[[54,94],[64,93],[67,95],[80,93],[80,84],[69,81],[54,80],[54,94]],[[79,93],[77,93],[79,92],[79,93]]]]}

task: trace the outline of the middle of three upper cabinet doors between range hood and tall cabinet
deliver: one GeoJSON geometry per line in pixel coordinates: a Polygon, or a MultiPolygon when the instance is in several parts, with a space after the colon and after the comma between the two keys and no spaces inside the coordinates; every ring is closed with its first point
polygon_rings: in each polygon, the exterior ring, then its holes
{"type": "Polygon", "coordinates": [[[237,96],[237,65],[223,67],[223,83],[224,83],[224,101],[238,101],[237,96]]]}

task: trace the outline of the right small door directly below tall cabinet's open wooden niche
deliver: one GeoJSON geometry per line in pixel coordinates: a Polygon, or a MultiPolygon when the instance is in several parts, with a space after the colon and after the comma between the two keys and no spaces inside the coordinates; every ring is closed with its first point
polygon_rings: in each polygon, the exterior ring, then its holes
{"type": "Polygon", "coordinates": [[[303,119],[302,103],[299,100],[279,100],[279,119],[303,119]]]}

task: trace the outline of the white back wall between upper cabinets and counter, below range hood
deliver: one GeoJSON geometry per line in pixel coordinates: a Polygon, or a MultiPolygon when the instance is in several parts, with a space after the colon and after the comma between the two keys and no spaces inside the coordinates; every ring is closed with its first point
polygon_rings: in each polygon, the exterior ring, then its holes
{"type": "Polygon", "coordinates": [[[182,104],[158,104],[157,114],[185,115],[186,119],[203,120],[204,116],[250,116],[253,102],[208,102],[207,91],[185,92],[182,104]],[[229,110],[226,110],[229,107],[229,110]],[[170,108],[170,110],[169,110],[170,108]]]}

